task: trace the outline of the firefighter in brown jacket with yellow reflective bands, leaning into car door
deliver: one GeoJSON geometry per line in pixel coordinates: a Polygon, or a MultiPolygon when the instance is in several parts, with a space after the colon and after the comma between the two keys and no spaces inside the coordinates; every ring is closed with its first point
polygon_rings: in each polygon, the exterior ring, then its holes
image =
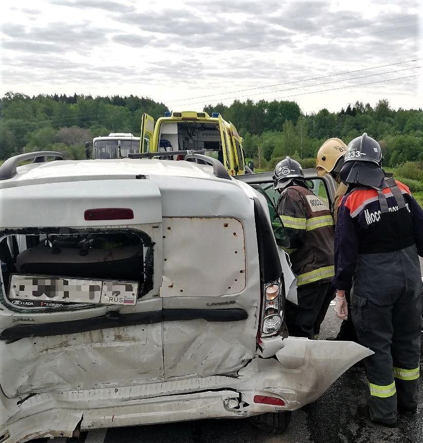
{"type": "MultiPolygon", "coordinates": [[[[289,334],[314,338],[314,328],[334,275],[334,226],[326,202],[307,187],[298,161],[286,157],[274,170],[281,195],[278,213],[286,228],[292,270],[297,275],[298,305],[286,303],[289,334]]],[[[327,309],[327,307],[326,307],[327,309]]]]}

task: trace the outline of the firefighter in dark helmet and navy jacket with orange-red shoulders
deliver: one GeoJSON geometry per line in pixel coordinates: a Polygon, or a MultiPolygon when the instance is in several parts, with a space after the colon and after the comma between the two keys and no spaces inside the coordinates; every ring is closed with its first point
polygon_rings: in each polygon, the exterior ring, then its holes
{"type": "Polygon", "coordinates": [[[364,360],[368,420],[396,426],[396,411],[415,412],[419,391],[423,211],[403,183],[381,169],[379,143],[363,134],[348,144],[341,179],[348,185],[335,232],[336,315],[351,315],[374,354],[364,360]]]}

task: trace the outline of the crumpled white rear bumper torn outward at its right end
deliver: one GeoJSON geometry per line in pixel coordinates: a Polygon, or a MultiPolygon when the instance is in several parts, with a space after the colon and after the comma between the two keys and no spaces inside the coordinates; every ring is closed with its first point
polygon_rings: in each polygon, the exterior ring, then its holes
{"type": "Polygon", "coordinates": [[[0,443],[70,437],[79,429],[241,418],[295,410],[317,399],[348,367],[371,354],[352,342],[296,338],[285,339],[283,347],[274,352],[278,340],[282,341],[275,339],[267,349],[277,359],[255,357],[230,376],[40,393],[21,399],[0,393],[4,423],[0,428],[0,443]],[[255,395],[280,398],[285,406],[254,403],[255,395]]]}

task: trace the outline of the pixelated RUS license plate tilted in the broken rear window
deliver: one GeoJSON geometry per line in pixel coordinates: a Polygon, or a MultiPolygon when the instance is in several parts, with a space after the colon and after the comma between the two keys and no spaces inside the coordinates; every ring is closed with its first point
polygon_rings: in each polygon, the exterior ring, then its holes
{"type": "Polygon", "coordinates": [[[134,306],[137,294],[138,282],[12,274],[8,298],[22,307],[74,303],[134,306]]]}

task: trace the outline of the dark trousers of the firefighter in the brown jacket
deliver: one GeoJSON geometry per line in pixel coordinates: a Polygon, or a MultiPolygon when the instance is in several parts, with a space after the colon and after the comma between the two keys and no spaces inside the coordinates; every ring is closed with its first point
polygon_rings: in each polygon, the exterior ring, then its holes
{"type": "Polygon", "coordinates": [[[290,336],[314,338],[314,328],[330,282],[310,283],[297,288],[298,305],[286,302],[286,326],[290,336]]]}

